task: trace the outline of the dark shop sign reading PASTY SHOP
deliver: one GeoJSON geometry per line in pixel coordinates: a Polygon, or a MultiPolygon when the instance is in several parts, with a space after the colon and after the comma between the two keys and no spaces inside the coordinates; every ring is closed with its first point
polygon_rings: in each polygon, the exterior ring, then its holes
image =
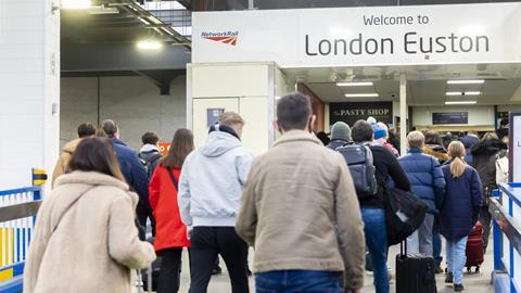
{"type": "Polygon", "coordinates": [[[357,120],[372,116],[378,122],[393,123],[393,102],[330,103],[329,124],[345,122],[353,126],[357,120]]]}

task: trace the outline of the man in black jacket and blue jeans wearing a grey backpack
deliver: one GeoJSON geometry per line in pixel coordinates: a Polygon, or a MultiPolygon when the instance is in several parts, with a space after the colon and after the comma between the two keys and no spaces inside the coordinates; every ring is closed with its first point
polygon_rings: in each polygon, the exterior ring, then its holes
{"type": "Polygon", "coordinates": [[[361,217],[365,222],[366,244],[371,255],[377,293],[389,292],[387,273],[387,234],[385,226],[385,182],[391,177],[396,188],[410,191],[410,182],[398,160],[385,146],[372,144],[372,126],[358,120],[353,125],[352,138],[356,143],[370,143],[378,192],[371,198],[360,200],[361,217]]]}

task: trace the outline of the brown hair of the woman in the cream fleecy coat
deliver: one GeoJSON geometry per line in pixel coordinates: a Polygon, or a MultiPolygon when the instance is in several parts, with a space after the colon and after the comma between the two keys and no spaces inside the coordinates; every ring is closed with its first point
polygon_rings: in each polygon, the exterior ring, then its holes
{"type": "Polygon", "coordinates": [[[98,171],[125,182],[112,142],[102,137],[85,138],[68,162],[71,171],[98,171]]]}

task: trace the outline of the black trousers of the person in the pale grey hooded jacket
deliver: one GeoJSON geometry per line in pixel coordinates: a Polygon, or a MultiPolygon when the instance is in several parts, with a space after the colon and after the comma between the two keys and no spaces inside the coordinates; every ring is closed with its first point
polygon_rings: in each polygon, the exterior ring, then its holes
{"type": "Polygon", "coordinates": [[[247,244],[233,227],[194,227],[190,239],[190,293],[206,293],[220,254],[230,273],[231,292],[249,293],[247,244]]]}

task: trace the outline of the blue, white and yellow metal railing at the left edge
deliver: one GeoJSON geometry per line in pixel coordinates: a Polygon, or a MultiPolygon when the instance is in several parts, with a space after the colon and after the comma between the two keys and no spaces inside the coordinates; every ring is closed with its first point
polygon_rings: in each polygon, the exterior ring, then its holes
{"type": "Polygon", "coordinates": [[[0,292],[22,292],[41,188],[0,191],[0,292]]]}

